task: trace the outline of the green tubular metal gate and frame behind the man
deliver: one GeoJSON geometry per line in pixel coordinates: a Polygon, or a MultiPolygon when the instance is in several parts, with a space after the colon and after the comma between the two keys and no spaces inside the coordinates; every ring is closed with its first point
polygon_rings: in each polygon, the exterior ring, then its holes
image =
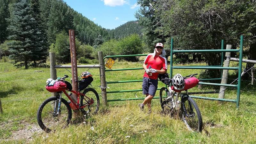
{"type": "MultiPolygon", "coordinates": [[[[135,55],[114,55],[114,56],[106,56],[104,57],[104,61],[106,58],[118,58],[118,57],[134,57],[134,56],[147,56],[147,54],[135,54],[135,55]]],[[[205,82],[199,82],[199,84],[202,85],[215,85],[215,86],[225,86],[225,87],[234,87],[237,88],[237,96],[236,100],[231,99],[218,99],[218,98],[209,98],[209,97],[201,97],[201,96],[190,96],[192,98],[196,99],[204,99],[204,100],[218,100],[218,101],[227,101],[227,102],[235,102],[236,107],[239,107],[239,101],[240,101],[240,85],[241,85],[241,74],[242,74],[242,58],[243,58],[243,36],[240,36],[240,49],[231,49],[231,50],[225,50],[224,49],[224,40],[221,41],[221,49],[219,50],[173,50],[173,38],[171,40],[171,58],[170,58],[170,77],[172,77],[172,70],[173,69],[220,69],[221,70],[221,76],[220,78],[212,78],[212,79],[200,79],[200,81],[209,81],[209,80],[221,80],[222,78],[222,71],[223,69],[229,69],[229,70],[238,70],[238,84],[217,84],[217,83],[205,83],[205,82]],[[215,52],[215,53],[221,53],[221,65],[219,66],[173,66],[173,54],[175,53],[190,53],[190,52],[215,52]],[[239,67],[223,67],[223,60],[224,60],[224,52],[239,52],[239,67]]],[[[106,69],[105,72],[110,71],[123,71],[123,70],[137,70],[137,69],[143,69],[141,68],[123,68],[123,69],[106,69]]],[[[116,81],[116,82],[107,82],[107,84],[116,84],[116,83],[132,83],[132,82],[142,82],[143,80],[131,80],[131,81],[116,81]]],[[[157,89],[160,90],[160,89],[157,89]]],[[[142,91],[142,89],[139,90],[122,90],[122,91],[110,91],[107,93],[118,93],[118,92],[138,92],[142,91]]],[[[198,94],[198,93],[204,93],[204,92],[190,92],[190,94],[198,94]]],[[[207,92],[207,93],[218,93],[218,92],[207,92]]],[[[159,97],[154,97],[154,99],[157,99],[159,97]]],[[[120,101],[120,100],[142,100],[145,98],[130,98],[130,99],[113,99],[113,100],[107,100],[107,101],[120,101]]]]}

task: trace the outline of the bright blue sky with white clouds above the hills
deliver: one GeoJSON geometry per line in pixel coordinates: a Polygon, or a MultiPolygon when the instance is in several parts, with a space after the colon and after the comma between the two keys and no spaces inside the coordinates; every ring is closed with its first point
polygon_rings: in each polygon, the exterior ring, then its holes
{"type": "Polygon", "coordinates": [[[113,29],[127,21],[137,20],[137,0],[64,0],[75,11],[103,28],[113,29]]]}

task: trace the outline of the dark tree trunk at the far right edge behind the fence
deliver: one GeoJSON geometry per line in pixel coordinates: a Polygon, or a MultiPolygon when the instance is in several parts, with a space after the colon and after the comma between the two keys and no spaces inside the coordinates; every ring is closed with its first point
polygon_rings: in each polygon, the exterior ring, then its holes
{"type": "MultiPolygon", "coordinates": [[[[248,55],[248,60],[256,60],[256,43],[250,44],[249,48],[249,55],[248,55]]],[[[245,70],[247,71],[248,69],[252,68],[254,64],[247,63],[245,70]]],[[[247,73],[244,73],[245,78],[251,78],[251,76],[247,73]]]]}

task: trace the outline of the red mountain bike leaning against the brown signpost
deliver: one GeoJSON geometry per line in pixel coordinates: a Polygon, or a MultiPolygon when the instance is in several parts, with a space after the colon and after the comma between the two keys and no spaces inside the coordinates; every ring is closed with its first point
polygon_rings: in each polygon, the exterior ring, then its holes
{"type": "MultiPolygon", "coordinates": [[[[57,92],[56,97],[50,97],[39,106],[37,110],[37,122],[39,126],[45,132],[51,132],[59,128],[66,127],[72,118],[72,109],[70,103],[73,103],[75,108],[74,111],[81,110],[85,115],[87,114],[96,114],[99,110],[100,99],[98,93],[93,88],[87,88],[83,93],[80,91],[73,91],[72,85],[64,81],[65,78],[68,78],[67,75],[60,78],[59,81],[65,82],[67,85],[70,85],[68,88],[61,92],[57,92]],[[72,92],[78,96],[77,103],[75,103],[70,95],[66,91],[72,92]],[[62,93],[64,93],[70,102],[62,98],[62,93]],[[87,109],[85,109],[87,108],[87,109]]],[[[79,84],[83,83],[82,81],[77,81],[79,84]]]]}

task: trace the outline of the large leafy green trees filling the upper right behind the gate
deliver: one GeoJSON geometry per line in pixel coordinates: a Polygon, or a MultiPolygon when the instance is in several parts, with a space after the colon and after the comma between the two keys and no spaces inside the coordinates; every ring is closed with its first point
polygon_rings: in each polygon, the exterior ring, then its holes
{"type": "MultiPolygon", "coordinates": [[[[173,37],[175,49],[220,49],[224,39],[236,49],[241,34],[245,47],[256,41],[254,1],[139,0],[138,4],[136,17],[147,44],[159,39],[170,44],[173,37]]],[[[208,65],[220,65],[220,53],[203,56],[208,65]]]]}

